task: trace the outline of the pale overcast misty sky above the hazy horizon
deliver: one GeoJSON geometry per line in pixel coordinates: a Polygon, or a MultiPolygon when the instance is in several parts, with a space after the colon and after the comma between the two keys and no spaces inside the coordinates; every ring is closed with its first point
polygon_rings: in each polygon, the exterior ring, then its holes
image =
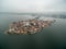
{"type": "Polygon", "coordinates": [[[0,12],[66,11],[66,0],[0,0],[0,12]]]}

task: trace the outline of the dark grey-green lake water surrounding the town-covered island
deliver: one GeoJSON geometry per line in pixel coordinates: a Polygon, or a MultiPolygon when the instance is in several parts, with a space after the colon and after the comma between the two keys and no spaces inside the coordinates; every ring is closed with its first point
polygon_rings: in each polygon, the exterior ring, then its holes
{"type": "Polygon", "coordinates": [[[26,19],[28,16],[23,15],[0,15],[0,49],[66,49],[64,19],[55,19],[56,22],[52,26],[35,35],[4,35],[10,23],[26,19]]]}

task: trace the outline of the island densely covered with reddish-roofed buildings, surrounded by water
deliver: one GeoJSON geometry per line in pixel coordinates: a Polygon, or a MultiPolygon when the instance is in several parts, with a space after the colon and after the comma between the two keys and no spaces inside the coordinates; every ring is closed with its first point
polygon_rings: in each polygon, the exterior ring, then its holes
{"type": "Polygon", "coordinates": [[[16,35],[32,35],[41,32],[44,27],[50,26],[53,21],[43,21],[38,20],[38,17],[26,20],[26,21],[18,21],[10,24],[9,29],[6,34],[16,34],[16,35]]]}

